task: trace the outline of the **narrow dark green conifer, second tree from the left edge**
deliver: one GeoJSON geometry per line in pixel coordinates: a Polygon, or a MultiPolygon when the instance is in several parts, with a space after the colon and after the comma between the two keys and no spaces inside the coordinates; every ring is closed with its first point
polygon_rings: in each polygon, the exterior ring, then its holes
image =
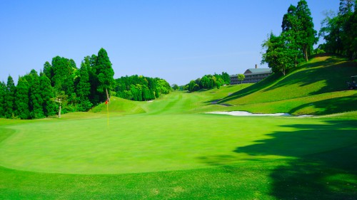
{"type": "Polygon", "coordinates": [[[11,118],[14,115],[15,107],[15,90],[16,86],[11,75],[7,78],[5,93],[5,116],[11,118]]]}

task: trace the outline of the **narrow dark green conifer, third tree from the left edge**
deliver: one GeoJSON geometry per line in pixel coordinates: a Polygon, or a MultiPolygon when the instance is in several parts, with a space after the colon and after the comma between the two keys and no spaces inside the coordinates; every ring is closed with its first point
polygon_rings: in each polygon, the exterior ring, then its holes
{"type": "Polygon", "coordinates": [[[16,86],[16,115],[21,118],[21,120],[27,120],[30,118],[29,111],[29,83],[27,83],[26,78],[19,77],[16,86]]]}

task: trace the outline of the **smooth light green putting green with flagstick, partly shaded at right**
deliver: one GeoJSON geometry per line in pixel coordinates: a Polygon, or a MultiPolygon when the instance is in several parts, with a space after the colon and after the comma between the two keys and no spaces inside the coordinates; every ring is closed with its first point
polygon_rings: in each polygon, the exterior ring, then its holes
{"type": "MultiPolygon", "coordinates": [[[[109,127],[106,119],[9,125],[14,134],[0,143],[0,165],[68,174],[159,172],[312,154],[348,143],[338,142],[346,139],[336,135],[328,137],[328,144],[308,149],[289,149],[296,141],[276,144],[288,151],[286,155],[236,150],[258,144],[258,140],[269,139],[276,132],[293,132],[296,127],[292,125],[296,124],[321,126],[326,122],[284,117],[272,120],[221,115],[131,115],[111,118],[109,127]]],[[[304,137],[309,139],[307,142],[321,140],[299,136],[301,140],[304,137]]]]}

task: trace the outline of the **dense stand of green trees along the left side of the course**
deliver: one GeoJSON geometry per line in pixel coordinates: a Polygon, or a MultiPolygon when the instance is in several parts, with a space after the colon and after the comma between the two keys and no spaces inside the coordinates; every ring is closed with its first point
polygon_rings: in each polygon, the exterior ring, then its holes
{"type": "Polygon", "coordinates": [[[72,59],[56,56],[38,73],[20,76],[17,85],[9,75],[0,82],[0,117],[39,119],[61,113],[88,111],[107,100],[106,92],[129,100],[152,100],[167,94],[166,80],[133,75],[114,79],[114,70],[104,48],[86,56],[77,68],[72,59]]]}

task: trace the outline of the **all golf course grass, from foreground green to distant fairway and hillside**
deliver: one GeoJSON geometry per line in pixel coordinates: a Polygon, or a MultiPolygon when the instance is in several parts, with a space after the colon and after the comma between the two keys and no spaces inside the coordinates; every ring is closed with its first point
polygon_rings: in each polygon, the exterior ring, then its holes
{"type": "Polygon", "coordinates": [[[325,65],[335,61],[152,102],[113,97],[109,115],[103,103],[60,119],[0,119],[0,199],[356,199],[356,90],[292,82],[356,71],[325,65]],[[207,114],[231,110],[316,116],[207,114]]]}

